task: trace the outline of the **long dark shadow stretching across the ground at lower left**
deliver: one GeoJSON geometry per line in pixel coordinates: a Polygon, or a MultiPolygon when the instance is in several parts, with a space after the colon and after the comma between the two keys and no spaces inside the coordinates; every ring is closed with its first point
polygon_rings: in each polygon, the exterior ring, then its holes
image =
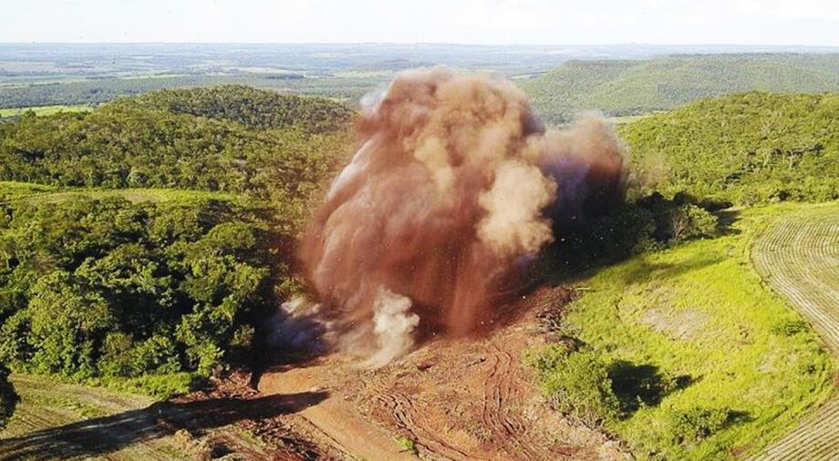
{"type": "Polygon", "coordinates": [[[289,415],[317,405],[325,392],[160,402],[139,410],[51,427],[0,440],[0,459],[64,460],[96,457],[186,429],[192,434],[243,420],[289,415]]]}

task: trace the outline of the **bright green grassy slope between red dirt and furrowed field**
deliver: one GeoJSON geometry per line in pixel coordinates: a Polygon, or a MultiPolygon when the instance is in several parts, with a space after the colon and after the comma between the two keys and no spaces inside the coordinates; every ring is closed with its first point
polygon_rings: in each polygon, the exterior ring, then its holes
{"type": "MultiPolygon", "coordinates": [[[[641,374],[636,384],[655,388],[658,377],[681,377],[678,388],[606,422],[639,458],[755,453],[832,393],[834,361],[821,340],[751,265],[752,236],[786,210],[744,210],[728,235],[640,255],[575,282],[585,295],[570,305],[565,332],[606,364],[628,363],[641,374]],[[733,417],[711,434],[679,438],[679,415],[712,409],[733,417]]],[[[636,389],[647,397],[651,390],[636,389]]]]}

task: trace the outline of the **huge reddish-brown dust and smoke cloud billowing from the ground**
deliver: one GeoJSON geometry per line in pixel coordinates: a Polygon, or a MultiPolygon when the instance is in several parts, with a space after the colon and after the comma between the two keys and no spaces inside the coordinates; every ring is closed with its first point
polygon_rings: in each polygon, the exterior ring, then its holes
{"type": "Polygon", "coordinates": [[[306,277],[344,342],[385,364],[413,330],[463,335],[561,221],[623,192],[612,128],[544,131],[509,82],[433,68],[363,108],[363,141],[302,244],[306,277]]]}

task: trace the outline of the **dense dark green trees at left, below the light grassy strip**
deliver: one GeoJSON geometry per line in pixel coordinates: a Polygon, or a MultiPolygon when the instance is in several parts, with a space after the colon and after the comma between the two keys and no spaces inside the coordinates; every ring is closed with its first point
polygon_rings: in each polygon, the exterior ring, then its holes
{"type": "Polygon", "coordinates": [[[0,204],[0,363],[184,390],[249,347],[283,295],[288,238],[271,216],[225,200],[0,204]]]}

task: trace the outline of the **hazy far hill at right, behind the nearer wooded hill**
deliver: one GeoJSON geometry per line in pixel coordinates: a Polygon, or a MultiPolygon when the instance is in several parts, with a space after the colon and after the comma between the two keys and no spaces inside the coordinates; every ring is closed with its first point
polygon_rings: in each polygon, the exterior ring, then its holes
{"type": "Polygon", "coordinates": [[[839,90],[839,55],[671,56],[647,60],[568,61],[520,87],[551,123],[583,110],[607,116],[677,108],[701,97],[752,90],[839,90]]]}

